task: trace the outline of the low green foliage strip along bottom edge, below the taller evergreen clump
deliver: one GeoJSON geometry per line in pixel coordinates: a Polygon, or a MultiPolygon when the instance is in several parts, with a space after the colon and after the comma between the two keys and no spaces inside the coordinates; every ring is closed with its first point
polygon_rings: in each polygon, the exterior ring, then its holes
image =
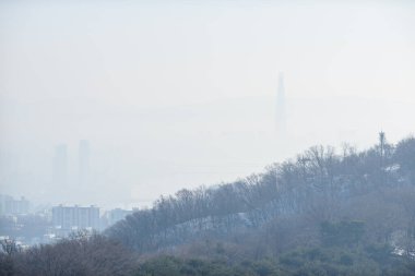
{"type": "MultiPolygon", "coordinates": [[[[377,248],[377,247],[375,247],[377,248]]],[[[140,265],[134,276],[394,276],[414,275],[415,262],[381,249],[315,247],[296,249],[276,259],[223,260],[158,256],[140,265]],[[382,259],[376,252],[381,251],[382,259]]],[[[379,252],[378,252],[379,253],[379,252]]]]}

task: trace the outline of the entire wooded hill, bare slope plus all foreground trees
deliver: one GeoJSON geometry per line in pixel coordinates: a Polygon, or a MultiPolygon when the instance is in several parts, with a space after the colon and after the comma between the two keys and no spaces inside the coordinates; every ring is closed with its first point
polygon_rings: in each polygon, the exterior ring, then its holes
{"type": "Polygon", "coordinates": [[[315,146],[103,235],[2,245],[3,275],[415,275],[415,139],[315,146]]]}

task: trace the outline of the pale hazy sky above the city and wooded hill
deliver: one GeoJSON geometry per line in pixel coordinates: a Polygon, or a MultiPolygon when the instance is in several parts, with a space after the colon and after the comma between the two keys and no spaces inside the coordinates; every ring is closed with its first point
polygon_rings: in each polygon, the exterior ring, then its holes
{"type": "Polygon", "coordinates": [[[1,1],[0,192],[142,205],[315,144],[414,133],[415,3],[331,2],[1,1]],[[82,139],[87,189],[75,184],[82,139]],[[51,182],[61,143],[70,191],[51,182]]]}

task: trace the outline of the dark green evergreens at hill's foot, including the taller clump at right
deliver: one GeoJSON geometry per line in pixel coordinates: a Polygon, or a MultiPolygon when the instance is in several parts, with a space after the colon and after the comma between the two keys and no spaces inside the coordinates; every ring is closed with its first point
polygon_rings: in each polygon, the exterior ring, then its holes
{"type": "Polygon", "coordinates": [[[322,223],[321,244],[298,247],[277,256],[238,257],[230,243],[200,244],[199,259],[158,255],[140,264],[135,276],[147,275],[249,275],[249,276],[410,276],[415,274],[413,257],[396,254],[388,244],[364,240],[361,221],[322,223]],[[203,257],[202,257],[203,256],[203,257]]]}

